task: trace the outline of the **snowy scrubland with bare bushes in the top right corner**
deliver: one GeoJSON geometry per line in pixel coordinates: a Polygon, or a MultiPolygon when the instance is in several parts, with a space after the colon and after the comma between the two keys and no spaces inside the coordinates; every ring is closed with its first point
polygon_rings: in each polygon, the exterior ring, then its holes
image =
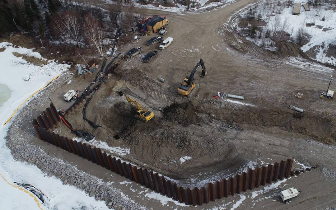
{"type": "MultiPolygon", "coordinates": [[[[305,11],[301,6],[300,15],[292,14],[293,5],[288,7],[287,0],[278,2],[272,5],[268,1],[261,1],[255,7],[250,7],[254,12],[254,20],[249,22],[247,28],[257,24],[258,31],[255,37],[247,37],[246,39],[274,51],[277,50],[273,42],[275,39],[272,38],[274,32],[276,32],[277,41],[286,40],[288,39],[287,35],[290,35],[289,40],[300,44],[298,33],[301,30],[303,33],[302,51],[306,52],[313,60],[336,65],[336,12],[331,8],[331,1],[325,1],[323,5],[316,7],[310,6],[310,11],[305,11]],[[286,33],[281,33],[281,31],[286,33]]],[[[294,3],[302,5],[307,2],[307,0],[294,1],[294,3]]],[[[242,12],[240,17],[248,17],[250,8],[242,12]]],[[[238,24],[238,22],[235,23],[238,32],[246,30],[246,27],[241,26],[240,28],[238,24]]]]}

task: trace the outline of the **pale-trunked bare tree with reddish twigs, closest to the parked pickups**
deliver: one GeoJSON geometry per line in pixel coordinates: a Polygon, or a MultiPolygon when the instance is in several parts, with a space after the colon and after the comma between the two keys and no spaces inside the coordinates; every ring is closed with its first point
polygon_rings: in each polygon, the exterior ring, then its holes
{"type": "Polygon", "coordinates": [[[97,20],[91,18],[89,15],[85,17],[85,37],[97,48],[100,56],[104,56],[102,49],[103,30],[97,20]]]}

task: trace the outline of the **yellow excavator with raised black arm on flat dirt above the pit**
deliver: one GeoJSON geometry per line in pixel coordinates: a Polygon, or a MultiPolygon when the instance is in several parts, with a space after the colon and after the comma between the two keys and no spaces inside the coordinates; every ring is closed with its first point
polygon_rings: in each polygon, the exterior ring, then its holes
{"type": "Polygon", "coordinates": [[[201,77],[205,77],[205,75],[207,74],[207,72],[205,71],[205,66],[204,66],[204,62],[203,59],[201,58],[198,63],[196,64],[195,68],[193,69],[193,71],[190,73],[189,77],[186,77],[183,82],[180,84],[180,86],[177,88],[177,92],[181,95],[186,95],[186,96],[190,96],[190,92],[193,89],[198,88],[199,84],[194,83],[194,74],[197,71],[197,69],[202,66],[202,73],[201,73],[201,77]]]}

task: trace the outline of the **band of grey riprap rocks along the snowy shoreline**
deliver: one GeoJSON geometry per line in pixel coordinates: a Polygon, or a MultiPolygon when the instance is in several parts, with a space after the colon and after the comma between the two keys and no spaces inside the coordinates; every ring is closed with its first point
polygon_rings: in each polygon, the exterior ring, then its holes
{"type": "Polygon", "coordinates": [[[19,161],[27,161],[35,164],[48,176],[56,176],[64,184],[71,184],[85,191],[97,200],[105,201],[109,208],[114,209],[145,209],[134,201],[129,201],[121,196],[121,193],[113,186],[108,186],[95,176],[84,173],[74,166],[60,161],[46,154],[39,146],[29,144],[28,139],[36,138],[35,130],[23,128],[23,125],[31,121],[31,110],[36,110],[41,103],[48,100],[48,95],[60,86],[66,84],[73,75],[65,74],[59,77],[52,85],[32,98],[23,110],[16,116],[7,133],[7,146],[12,156],[19,161]],[[22,138],[22,136],[25,136],[22,138]]]}

